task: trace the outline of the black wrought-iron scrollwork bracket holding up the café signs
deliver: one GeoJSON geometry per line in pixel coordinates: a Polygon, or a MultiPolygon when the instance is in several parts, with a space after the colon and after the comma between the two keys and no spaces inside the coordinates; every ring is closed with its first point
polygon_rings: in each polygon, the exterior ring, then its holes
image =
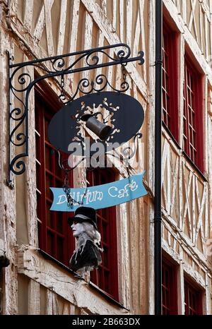
{"type": "Polygon", "coordinates": [[[58,96],[62,104],[68,104],[78,94],[88,95],[91,92],[100,92],[107,85],[116,92],[125,92],[129,89],[126,82],[125,73],[123,82],[120,83],[120,89],[113,88],[110,81],[103,74],[95,76],[92,80],[81,78],[76,91],[71,97],[68,97],[64,91],[64,76],[104,68],[113,65],[122,65],[122,68],[129,62],[139,61],[143,64],[143,52],[139,56],[130,57],[131,50],[127,44],[113,44],[110,46],[99,47],[95,49],[62,54],[59,56],[47,57],[45,59],[35,59],[23,63],[13,64],[13,58],[8,52],[8,186],[13,189],[12,174],[20,175],[25,172],[25,160],[28,156],[28,109],[29,96],[33,87],[41,80],[47,78],[60,77],[57,80],[61,94],[58,96]],[[115,56],[110,56],[110,49],[114,49],[115,56]],[[101,55],[101,56],[100,56],[101,55]],[[101,62],[100,62],[100,59],[101,62]],[[30,76],[30,68],[37,68],[40,76],[34,78],[30,76]],[[16,150],[15,150],[16,149],[16,150]],[[16,152],[15,152],[16,151],[16,152]]]}

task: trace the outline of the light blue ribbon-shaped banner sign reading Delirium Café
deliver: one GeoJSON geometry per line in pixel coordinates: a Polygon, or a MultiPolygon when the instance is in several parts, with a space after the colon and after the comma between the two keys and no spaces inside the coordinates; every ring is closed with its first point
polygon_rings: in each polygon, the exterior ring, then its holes
{"type": "MultiPolygon", "coordinates": [[[[109,184],[88,187],[81,189],[71,189],[71,197],[77,202],[83,202],[83,206],[94,209],[102,209],[119,205],[147,194],[143,186],[143,175],[136,174],[126,179],[113,181],[109,184]],[[85,195],[86,191],[86,195],[85,195]]],[[[63,189],[50,187],[54,194],[54,201],[50,210],[75,211],[79,205],[73,203],[73,208],[67,205],[66,193],[63,189]]]]}

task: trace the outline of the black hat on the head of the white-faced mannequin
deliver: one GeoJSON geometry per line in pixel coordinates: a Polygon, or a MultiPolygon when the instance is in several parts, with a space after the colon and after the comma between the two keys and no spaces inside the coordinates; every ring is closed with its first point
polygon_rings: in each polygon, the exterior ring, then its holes
{"type": "Polygon", "coordinates": [[[68,224],[71,227],[73,222],[90,222],[95,229],[97,227],[97,217],[95,213],[95,209],[89,207],[79,207],[76,209],[74,216],[68,218],[68,224]]]}

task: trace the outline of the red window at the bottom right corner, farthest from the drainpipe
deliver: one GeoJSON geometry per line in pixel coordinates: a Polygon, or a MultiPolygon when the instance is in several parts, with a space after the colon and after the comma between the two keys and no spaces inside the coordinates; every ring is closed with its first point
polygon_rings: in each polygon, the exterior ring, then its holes
{"type": "Polygon", "coordinates": [[[184,280],[184,313],[186,316],[202,314],[202,292],[184,280]]]}

